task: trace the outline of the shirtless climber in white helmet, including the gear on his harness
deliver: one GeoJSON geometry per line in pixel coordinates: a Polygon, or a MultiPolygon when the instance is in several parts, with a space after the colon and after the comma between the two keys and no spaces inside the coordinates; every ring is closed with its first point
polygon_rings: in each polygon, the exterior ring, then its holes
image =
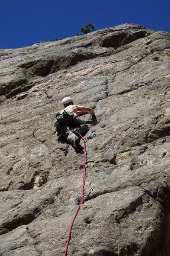
{"type": "Polygon", "coordinates": [[[83,122],[79,116],[90,113],[92,116],[93,124],[97,124],[97,119],[92,108],[74,105],[73,100],[70,97],[62,99],[64,109],[57,113],[55,130],[60,137],[64,137],[69,144],[73,146],[77,153],[82,152],[82,146],[80,143],[79,133],[84,135],[88,131],[88,125],[83,122]]]}

